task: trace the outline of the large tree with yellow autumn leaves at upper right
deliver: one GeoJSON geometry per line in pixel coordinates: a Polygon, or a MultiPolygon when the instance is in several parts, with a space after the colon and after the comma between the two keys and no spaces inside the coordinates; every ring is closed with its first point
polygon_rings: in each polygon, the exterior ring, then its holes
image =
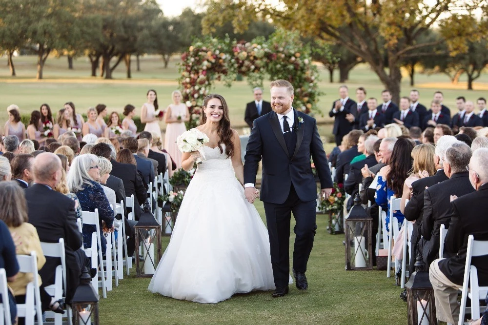
{"type": "Polygon", "coordinates": [[[477,17],[487,6],[485,0],[207,0],[203,29],[211,32],[231,20],[242,31],[250,21],[273,20],[304,36],[340,44],[369,63],[398,101],[402,64],[432,55],[432,46],[442,42],[452,54],[467,51],[468,40],[486,36],[477,17]],[[442,37],[425,41],[430,28],[442,37]]]}

